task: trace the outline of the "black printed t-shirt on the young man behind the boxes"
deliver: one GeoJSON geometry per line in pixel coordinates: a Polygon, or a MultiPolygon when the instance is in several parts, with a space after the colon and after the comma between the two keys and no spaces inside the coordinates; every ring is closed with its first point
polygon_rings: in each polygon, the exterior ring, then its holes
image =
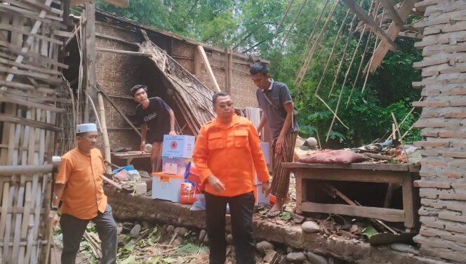
{"type": "Polygon", "coordinates": [[[142,109],[141,105],[136,107],[136,117],[139,124],[147,124],[146,142],[162,142],[164,135],[170,133],[171,108],[159,97],[149,98],[149,107],[142,109]]]}

